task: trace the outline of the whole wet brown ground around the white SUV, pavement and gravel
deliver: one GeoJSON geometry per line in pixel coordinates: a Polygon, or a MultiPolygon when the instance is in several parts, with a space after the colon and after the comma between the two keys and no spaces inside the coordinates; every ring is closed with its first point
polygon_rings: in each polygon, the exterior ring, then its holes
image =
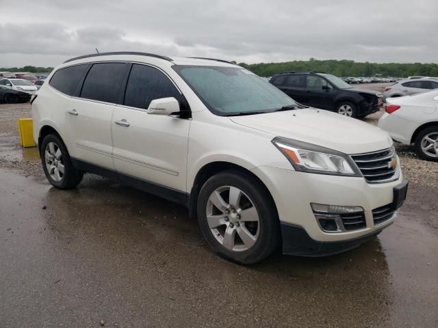
{"type": "Polygon", "coordinates": [[[18,146],[29,116],[0,105],[1,328],[438,327],[438,164],[411,147],[397,145],[408,200],[378,238],[240,267],[179,205],[93,175],[52,188],[18,146]]]}

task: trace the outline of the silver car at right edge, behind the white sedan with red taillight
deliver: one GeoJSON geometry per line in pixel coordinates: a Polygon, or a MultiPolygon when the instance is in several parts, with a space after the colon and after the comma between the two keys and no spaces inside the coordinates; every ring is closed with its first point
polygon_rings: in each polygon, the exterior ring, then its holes
{"type": "Polygon", "coordinates": [[[410,79],[398,81],[389,85],[383,92],[383,99],[409,96],[419,92],[426,92],[438,88],[436,79],[410,79]]]}

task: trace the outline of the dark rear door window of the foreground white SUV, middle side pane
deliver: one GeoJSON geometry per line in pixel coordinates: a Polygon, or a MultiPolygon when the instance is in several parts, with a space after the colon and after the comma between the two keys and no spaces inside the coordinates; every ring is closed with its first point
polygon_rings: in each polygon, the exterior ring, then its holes
{"type": "Polygon", "coordinates": [[[81,98],[118,103],[125,63],[93,64],[83,81],[81,98]]]}

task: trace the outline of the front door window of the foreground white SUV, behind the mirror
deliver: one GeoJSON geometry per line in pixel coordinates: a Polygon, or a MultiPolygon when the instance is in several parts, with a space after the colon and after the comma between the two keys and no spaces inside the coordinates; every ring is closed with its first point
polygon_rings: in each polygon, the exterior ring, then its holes
{"type": "Polygon", "coordinates": [[[133,64],[125,92],[124,105],[148,109],[154,99],[181,98],[165,74],[151,66],[133,64]]]}

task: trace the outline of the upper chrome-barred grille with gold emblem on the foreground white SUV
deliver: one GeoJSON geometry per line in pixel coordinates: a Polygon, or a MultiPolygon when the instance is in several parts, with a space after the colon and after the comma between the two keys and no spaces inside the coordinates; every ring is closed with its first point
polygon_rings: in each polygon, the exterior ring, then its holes
{"type": "Polygon", "coordinates": [[[378,152],[351,155],[368,182],[387,182],[398,170],[394,147],[378,152]]]}

